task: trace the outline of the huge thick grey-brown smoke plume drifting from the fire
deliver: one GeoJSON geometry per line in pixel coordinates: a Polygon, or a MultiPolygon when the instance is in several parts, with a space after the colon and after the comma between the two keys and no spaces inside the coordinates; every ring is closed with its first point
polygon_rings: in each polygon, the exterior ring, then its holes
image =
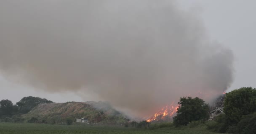
{"type": "Polygon", "coordinates": [[[147,115],[232,83],[233,54],[173,0],[1,0],[0,71],[147,115]]]}

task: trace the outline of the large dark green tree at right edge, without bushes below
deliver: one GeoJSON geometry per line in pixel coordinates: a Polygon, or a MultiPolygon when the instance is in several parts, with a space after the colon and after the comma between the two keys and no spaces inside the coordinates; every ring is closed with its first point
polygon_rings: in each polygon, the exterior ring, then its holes
{"type": "Polygon", "coordinates": [[[226,93],[224,99],[224,113],[227,124],[237,124],[243,115],[256,112],[256,89],[240,88],[226,93]]]}

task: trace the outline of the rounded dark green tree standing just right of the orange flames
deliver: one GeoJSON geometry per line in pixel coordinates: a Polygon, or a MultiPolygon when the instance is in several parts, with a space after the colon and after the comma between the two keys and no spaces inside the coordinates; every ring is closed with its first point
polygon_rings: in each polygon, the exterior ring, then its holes
{"type": "Polygon", "coordinates": [[[191,121],[209,119],[209,105],[202,99],[196,97],[183,97],[178,102],[177,115],[173,117],[175,126],[187,125],[191,121]]]}

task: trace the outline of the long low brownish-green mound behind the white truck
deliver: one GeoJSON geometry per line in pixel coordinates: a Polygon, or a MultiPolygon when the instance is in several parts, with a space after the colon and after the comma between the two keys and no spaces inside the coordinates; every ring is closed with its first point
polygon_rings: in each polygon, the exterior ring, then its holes
{"type": "Polygon", "coordinates": [[[93,124],[124,124],[128,118],[109,103],[99,101],[40,104],[22,115],[26,121],[37,123],[66,124],[67,120],[86,117],[93,124]]]}

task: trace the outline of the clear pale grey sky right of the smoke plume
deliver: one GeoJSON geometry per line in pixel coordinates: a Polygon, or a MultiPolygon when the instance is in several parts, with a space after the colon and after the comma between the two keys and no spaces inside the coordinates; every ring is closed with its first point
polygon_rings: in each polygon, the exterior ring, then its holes
{"type": "Polygon", "coordinates": [[[179,0],[182,8],[199,12],[211,39],[232,49],[235,80],[227,91],[256,87],[256,12],[254,0],[179,0]],[[193,8],[192,8],[193,9],[193,8]]]}

